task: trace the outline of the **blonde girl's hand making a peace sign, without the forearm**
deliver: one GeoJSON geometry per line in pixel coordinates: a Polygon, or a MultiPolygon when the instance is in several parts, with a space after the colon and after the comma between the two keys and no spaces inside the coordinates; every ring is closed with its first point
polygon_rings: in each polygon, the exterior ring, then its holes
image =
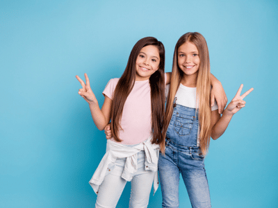
{"type": "Polygon", "coordinates": [[[236,92],[236,96],[231,100],[231,103],[226,107],[227,113],[234,115],[236,112],[238,112],[241,108],[245,107],[245,101],[243,101],[243,98],[245,98],[250,92],[253,91],[253,87],[249,89],[247,92],[245,92],[242,96],[240,96],[241,91],[243,90],[243,84],[240,85],[238,92],[236,92]]]}

